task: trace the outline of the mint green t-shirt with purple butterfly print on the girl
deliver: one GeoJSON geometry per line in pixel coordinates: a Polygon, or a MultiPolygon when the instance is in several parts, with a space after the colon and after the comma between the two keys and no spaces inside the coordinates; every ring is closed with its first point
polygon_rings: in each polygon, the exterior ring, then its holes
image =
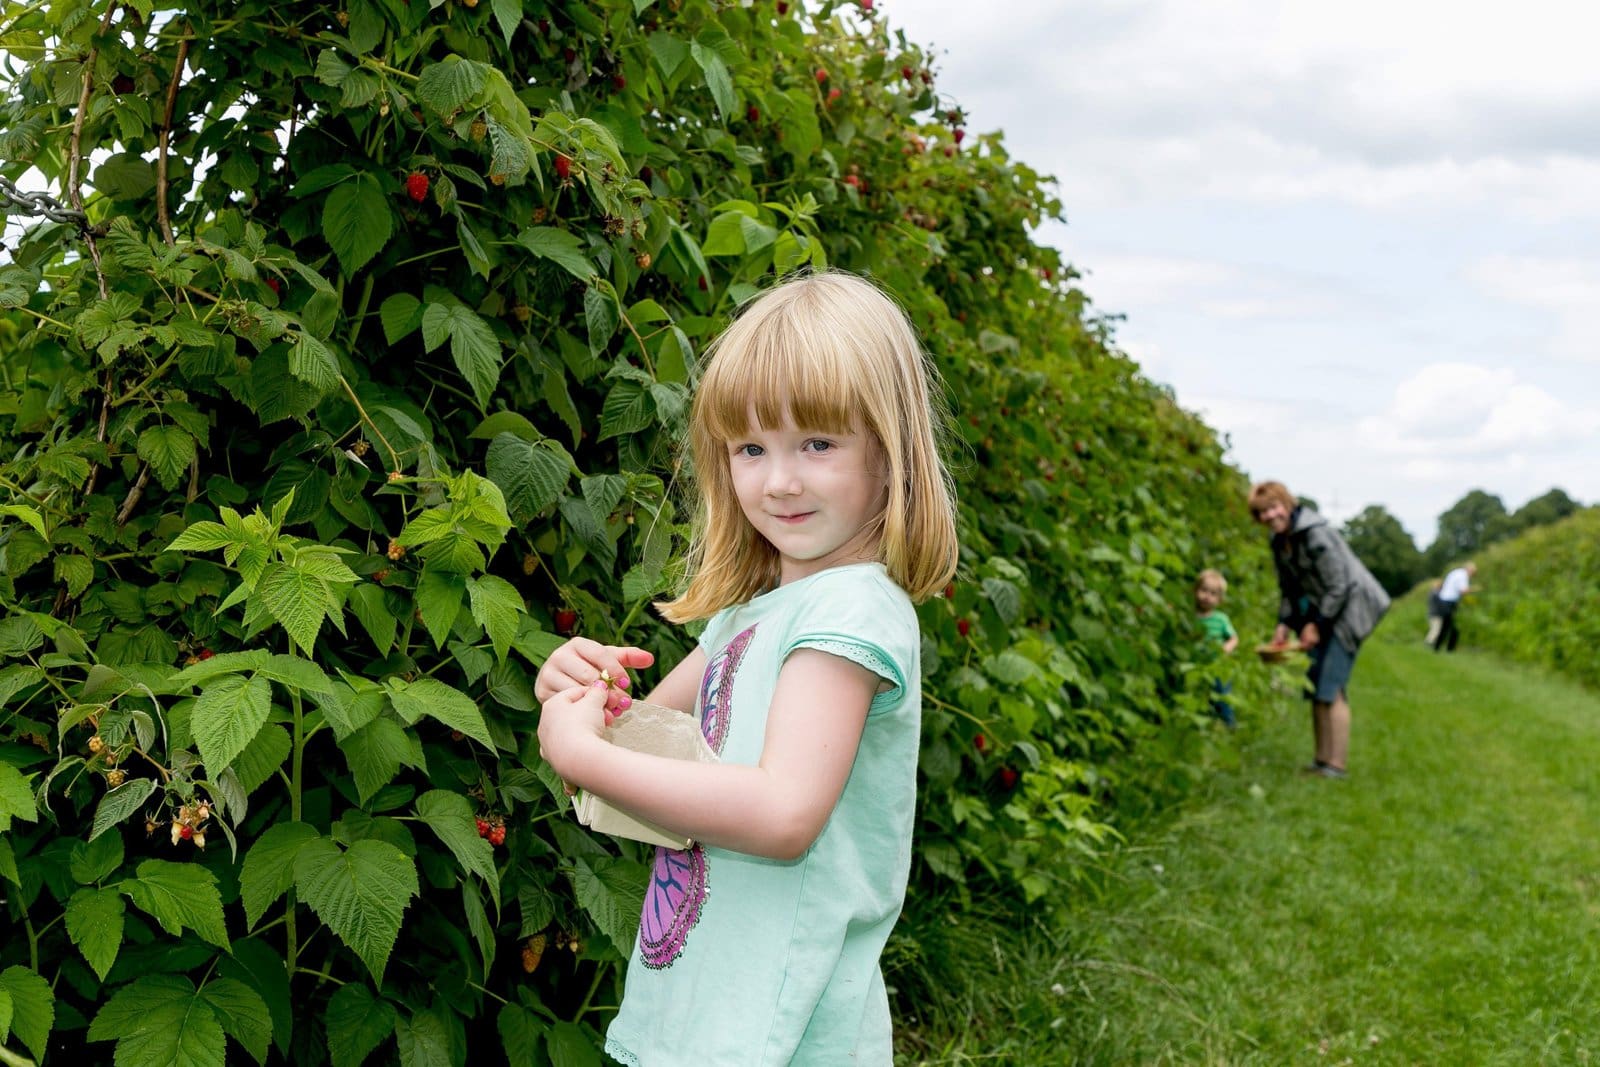
{"type": "Polygon", "coordinates": [[[922,637],[878,563],[837,566],[715,614],[696,715],[723,763],[755,765],[789,653],[858,662],[872,699],[850,779],[795,861],[658,848],[606,1053],[640,1067],[893,1062],[878,955],[906,899],[922,637]]]}

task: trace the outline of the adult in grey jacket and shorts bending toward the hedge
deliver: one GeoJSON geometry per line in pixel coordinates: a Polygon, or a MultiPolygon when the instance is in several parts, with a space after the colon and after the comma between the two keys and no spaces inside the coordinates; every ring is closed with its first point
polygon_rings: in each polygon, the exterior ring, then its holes
{"type": "Polygon", "coordinates": [[[1307,677],[1317,758],[1306,769],[1344,777],[1350,753],[1346,689],[1355,653],[1389,609],[1389,595],[1328,520],[1296,504],[1282,482],[1254,486],[1250,514],[1272,531],[1272,561],[1282,593],[1272,640],[1282,645],[1298,630],[1301,646],[1310,654],[1307,677]]]}

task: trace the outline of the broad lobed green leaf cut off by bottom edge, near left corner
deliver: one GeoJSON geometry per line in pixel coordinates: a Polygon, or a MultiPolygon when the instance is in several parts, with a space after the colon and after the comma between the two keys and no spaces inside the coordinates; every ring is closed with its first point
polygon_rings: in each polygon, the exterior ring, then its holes
{"type": "Polygon", "coordinates": [[[123,985],[90,1024],[91,1041],[117,1041],[120,1067],[224,1067],[227,1038],[182,974],[123,985]]]}

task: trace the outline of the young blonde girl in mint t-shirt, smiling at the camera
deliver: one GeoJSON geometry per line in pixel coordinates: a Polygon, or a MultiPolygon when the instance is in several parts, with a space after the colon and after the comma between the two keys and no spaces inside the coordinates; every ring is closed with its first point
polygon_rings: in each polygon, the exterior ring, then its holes
{"type": "Polygon", "coordinates": [[[624,1064],[893,1061],[878,955],[910,865],[912,603],[957,557],[930,376],[904,312],[843,274],[776,286],[712,347],[690,582],[659,605],[709,622],[648,699],[693,710],[720,763],[602,739],[602,670],[626,686],[648,651],[573,638],[539,670],[550,766],[698,841],[656,851],[606,1032],[624,1064]]]}

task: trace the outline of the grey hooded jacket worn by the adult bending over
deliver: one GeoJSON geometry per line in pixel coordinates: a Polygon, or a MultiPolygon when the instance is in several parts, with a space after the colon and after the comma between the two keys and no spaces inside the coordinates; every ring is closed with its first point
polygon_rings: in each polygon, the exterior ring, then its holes
{"type": "Polygon", "coordinates": [[[1274,534],[1272,561],[1278,568],[1278,622],[1299,629],[1320,619],[1352,653],[1384,617],[1389,593],[1378,584],[1344,537],[1309,507],[1296,507],[1286,534],[1274,534]]]}

